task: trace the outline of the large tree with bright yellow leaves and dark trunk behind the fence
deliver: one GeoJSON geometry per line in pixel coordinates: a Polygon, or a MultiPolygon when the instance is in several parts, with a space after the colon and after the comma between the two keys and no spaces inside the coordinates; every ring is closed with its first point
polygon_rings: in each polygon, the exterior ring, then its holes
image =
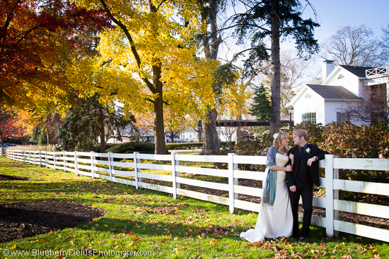
{"type": "MultiPolygon", "coordinates": [[[[128,114],[153,111],[155,152],[165,154],[164,105],[187,114],[204,109],[213,98],[211,72],[216,62],[196,58],[192,44],[193,35],[203,30],[195,1],[78,2],[104,8],[117,25],[100,34],[100,60],[92,64],[98,64],[93,68],[96,75],[106,76],[89,82],[96,88],[91,92],[102,93],[107,101],[122,102],[128,114]],[[114,73],[124,77],[119,79],[114,73]]],[[[84,71],[81,78],[90,80],[85,66],[76,69],[84,71]]]]}

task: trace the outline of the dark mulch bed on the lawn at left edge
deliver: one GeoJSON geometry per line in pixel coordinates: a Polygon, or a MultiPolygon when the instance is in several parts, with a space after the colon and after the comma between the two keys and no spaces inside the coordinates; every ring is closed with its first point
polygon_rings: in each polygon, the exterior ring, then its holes
{"type": "Polygon", "coordinates": [[[76,227],[106,214],[99,208],[68,202],[3,203],[1,206],[0,243],[76,227]]]}

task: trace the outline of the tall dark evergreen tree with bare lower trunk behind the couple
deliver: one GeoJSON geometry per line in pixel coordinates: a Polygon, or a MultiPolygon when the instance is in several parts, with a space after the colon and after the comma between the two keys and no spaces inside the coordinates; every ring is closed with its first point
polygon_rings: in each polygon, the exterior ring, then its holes
{"type": "MultiPolygon", "coordinates": [[[[240,52],[250,52],[245,60],[246,74],[255,73],[257,62],[269,60],[271,66],[269,77],[272,88],[272,113],[270,120],[270,131],[275,131],[279,124],[280,114],[280,59],[279,40],[285,37],[293,37],[298,49],[298,55],[314,54],[318,52],[318,42],[313,38],[313,31],[318,27],[311,18],[301,18],[303,6],[298,0],[249,0],[237,1],[245,6],[245,13],[238,13],[233,16],[238,43],[243,44],[249,37],[251,40],[250,49],[240,52]],[[270,48],[266,46],[265,40],[271,40],[270,48]]],[[[306,1],[309,4],[309,1],[306,1]]],[[[309,4],[310,5],[310,4],[309,4]]]]}

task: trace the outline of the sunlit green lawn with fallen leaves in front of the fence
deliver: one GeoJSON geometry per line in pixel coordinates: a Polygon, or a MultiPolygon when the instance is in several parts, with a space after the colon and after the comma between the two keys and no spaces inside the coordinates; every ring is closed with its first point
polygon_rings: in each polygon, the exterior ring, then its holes
{"type": "MultiPolygon", "coordinates": [[[[59,201],[100,207],[105,217],[74,229],[0,243],[4,251],[69,251],[69,258],[122,258],[119,251],[151,253],[145,258],[388,258],[388,243],[341,234],[327,239],[325,229],[311,227],[311,238],[248,243],[239,234],[253,227],[254,212],[231,215],[228,207],[132,186],[92,180],[74,173],[23,164],[0,157],[0,174],[28,177],[28,181],[1,181],[0,203],[59,201]],[[221,231],[216,234],[216,230],[221,231]],[[105,255],[90,255],[87,251],[105,255]],[[147,252],[149,251],[149,252],[147,252]],[[81,255],[85,253],[85,255],[81,255]],[[110,255],[108,255],[110,253],[110,255]]],[[[1,233],[0,233],[1,234],[1,233]]],[[[55,258],[53,255],[24,258],[55,258]]],[[[59,256],[57,258],[64,258],[59,256]]]]}

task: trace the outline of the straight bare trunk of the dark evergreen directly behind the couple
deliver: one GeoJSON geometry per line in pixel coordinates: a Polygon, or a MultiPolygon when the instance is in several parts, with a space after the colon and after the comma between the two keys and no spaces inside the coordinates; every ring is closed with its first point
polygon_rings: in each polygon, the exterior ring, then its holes
{"type": "Polygon", "coordinates": [[[270,80],[272,81],[272,112],[273,118],[270,119],[270,133],[278,128],[279,112],[281,105],[280,97],[280,62],[279,62],[279,1],[272,0],[270,22],[272,25],[272,63],[270,80]]]}

